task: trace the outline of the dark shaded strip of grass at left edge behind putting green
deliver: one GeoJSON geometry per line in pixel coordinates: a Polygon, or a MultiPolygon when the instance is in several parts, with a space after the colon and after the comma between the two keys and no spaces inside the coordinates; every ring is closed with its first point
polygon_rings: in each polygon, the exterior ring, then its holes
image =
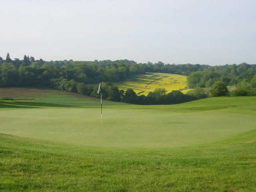
{"type": "Polygon", "coordinates": [[[39,108],[39,107],[80,108],[82,106],[41,103],[41,102],[28,102],[28,101],[0,101],[0,108],[39,108]]]}

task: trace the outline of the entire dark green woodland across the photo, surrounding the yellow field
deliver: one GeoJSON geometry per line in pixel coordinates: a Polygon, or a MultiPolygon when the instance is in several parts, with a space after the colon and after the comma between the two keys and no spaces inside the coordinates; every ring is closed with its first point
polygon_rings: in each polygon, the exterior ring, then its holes
{"type": "Polygon", "coordinates": [[[256,65],[209,66],[200,64],[164,64],[136,63],[131,60],[103,61],[44,61],[24,55],[23,60],[12,60],[9,53],[4,60],[0,57],[0,87],[37,86],[51,87],[70,92],[78,92],[97,97],[97,87],[90,84],[99,82],[118,82],[136,74],[145,72],[163,72],[188,76],[189,88],[194,91],[184,95],[174,91],[166,94],[165,90],[156,90],[148,96],[137,96],[133,90],[118,90],[111,83],[102,90],[104,98],[137,104],[170,104],[204,98],[207,96],[200,88],[211,87],[216,82],[234,85],[238,88],[253,90],[256,88],[256,65]],[[89,84],[89,86],[88,86],[89,84]]]}

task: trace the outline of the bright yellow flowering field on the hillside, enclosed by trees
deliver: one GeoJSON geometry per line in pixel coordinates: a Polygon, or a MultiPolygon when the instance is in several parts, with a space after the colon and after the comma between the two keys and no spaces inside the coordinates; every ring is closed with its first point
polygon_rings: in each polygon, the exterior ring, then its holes
{"type": "Polygon", "coordinates": [[[117,85],[122,90],[131,88],[136,94],[148,95],[148,92],[154,91],[156,88],[165,88],[168,92],[180,90],[186,93],[188,92],[186,82],[187,77],[184,75],[147,72],[117,85]]]}

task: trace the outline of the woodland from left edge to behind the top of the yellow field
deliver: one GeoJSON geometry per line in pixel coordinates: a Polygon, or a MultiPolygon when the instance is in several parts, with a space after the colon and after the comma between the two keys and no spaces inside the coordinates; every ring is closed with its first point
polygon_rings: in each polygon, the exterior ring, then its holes
{"type": "Polygon", "coordinates": [[[209,66],[192,64],[136,63],[131,60],[44,61],[26,56],[12,60],[0,57],[0,86],[48,86],[76,92],[76,83],[118,82],[145,72],[189,74],[209,66]]]}

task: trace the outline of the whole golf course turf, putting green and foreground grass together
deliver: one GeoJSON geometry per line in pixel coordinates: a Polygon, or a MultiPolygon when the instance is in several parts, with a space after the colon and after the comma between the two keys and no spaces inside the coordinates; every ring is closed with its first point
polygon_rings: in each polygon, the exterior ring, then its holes
{"type": "Polygon", "coordinates": [[[0,102],[0,191],[255,191],[256,98],[0,102]]]}

